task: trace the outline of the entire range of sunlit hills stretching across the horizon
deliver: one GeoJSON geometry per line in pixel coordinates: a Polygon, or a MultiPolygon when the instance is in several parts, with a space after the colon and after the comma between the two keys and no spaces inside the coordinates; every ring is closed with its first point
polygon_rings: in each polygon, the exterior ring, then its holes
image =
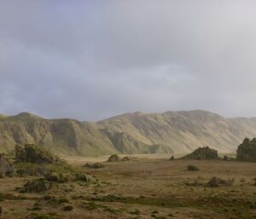
{"type": "Polygon", "coordinates": [[[246,136],[256,136],[256,118],[224,118],[205,111],[134,112],[96,123],[28,112],[0,115],[0,152],[13,150],[16,143],[33,143],[58,155],[190,153],[203,146],[235,153],[246,136]]]}

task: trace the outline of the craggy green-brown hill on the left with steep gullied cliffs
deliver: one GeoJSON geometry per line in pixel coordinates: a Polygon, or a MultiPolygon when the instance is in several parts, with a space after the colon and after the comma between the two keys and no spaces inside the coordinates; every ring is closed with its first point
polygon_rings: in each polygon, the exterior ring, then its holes
{"type": "Polygon", "coordinates": [[[15,144],[36,144],[59,155],[114,153],[108,137],[74,119],[44,119],[27,112],[0,118],[0,152],[15,144]]]}

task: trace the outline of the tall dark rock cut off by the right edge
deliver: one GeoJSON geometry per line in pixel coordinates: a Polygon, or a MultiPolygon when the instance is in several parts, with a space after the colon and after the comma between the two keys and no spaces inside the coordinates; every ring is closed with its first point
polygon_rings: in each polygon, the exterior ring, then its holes
{"type": "Polygon", "coordinates": [[[246,138],[237,148],[236,159],[239,161],[256,162],[256,138],[246,138]]]}

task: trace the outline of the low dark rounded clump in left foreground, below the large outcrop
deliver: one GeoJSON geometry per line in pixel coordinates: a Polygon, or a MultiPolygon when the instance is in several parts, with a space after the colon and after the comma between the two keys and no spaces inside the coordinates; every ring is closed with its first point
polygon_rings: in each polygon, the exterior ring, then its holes
{"type": "Polygon", "coordinates": [[[44,178],[39,178],[26,182],[24,187],[21,188],[20,193],[43,193],[50,189],[51,183],[44,178]]]}

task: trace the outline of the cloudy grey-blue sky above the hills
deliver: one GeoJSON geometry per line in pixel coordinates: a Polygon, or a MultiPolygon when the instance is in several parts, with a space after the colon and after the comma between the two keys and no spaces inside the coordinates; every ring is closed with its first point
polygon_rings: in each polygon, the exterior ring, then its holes
{"type": "Polygon", "coordinates": [[[256,116],[254,0],[1,0],[0,113],[256,116]]]}

